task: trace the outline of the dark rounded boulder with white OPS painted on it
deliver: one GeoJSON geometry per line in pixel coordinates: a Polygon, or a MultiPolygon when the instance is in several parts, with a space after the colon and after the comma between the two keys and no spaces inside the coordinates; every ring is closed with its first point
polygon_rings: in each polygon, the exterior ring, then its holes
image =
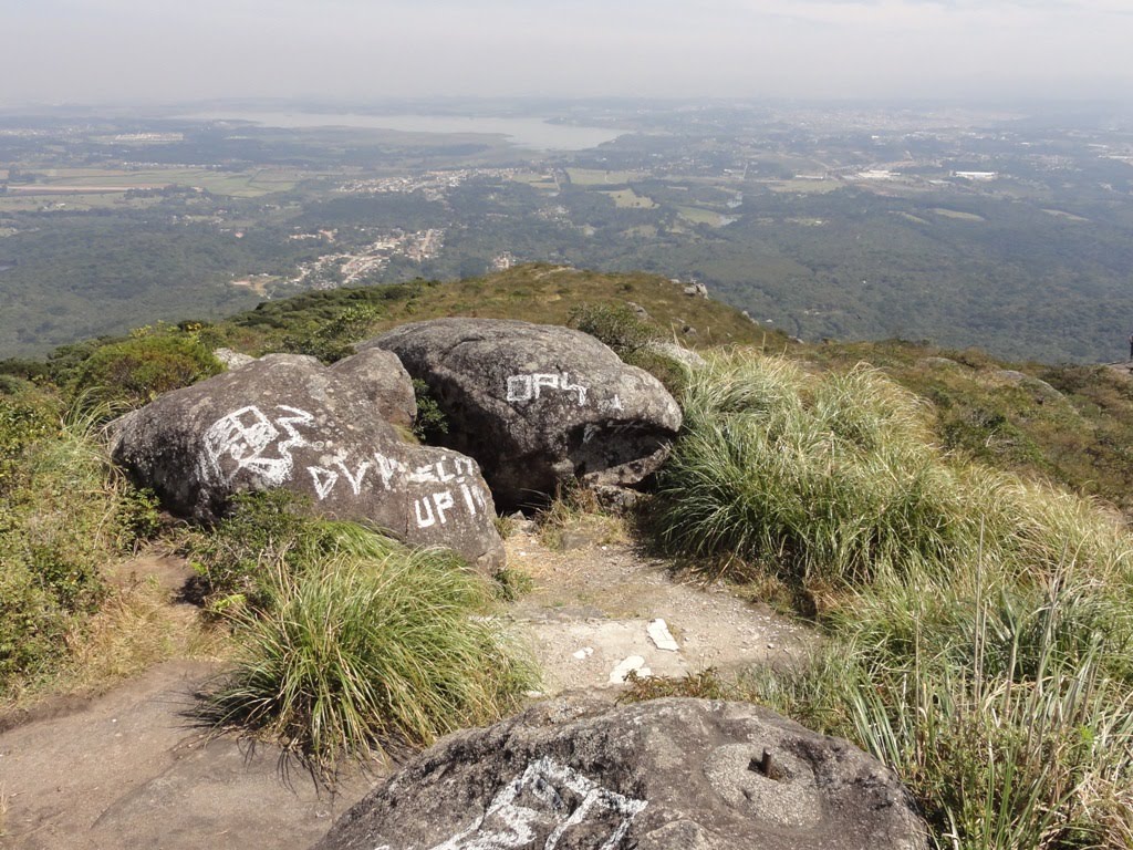
{"type": "Polygon", "coordinates": [[[480,462],[499,503],[559,484],[632,485],[655,471],[681,410],[653,375],[589,334],[554,325],[438,318],[359,348],[393,351],[449,419],[445,444],[480,462]]]}

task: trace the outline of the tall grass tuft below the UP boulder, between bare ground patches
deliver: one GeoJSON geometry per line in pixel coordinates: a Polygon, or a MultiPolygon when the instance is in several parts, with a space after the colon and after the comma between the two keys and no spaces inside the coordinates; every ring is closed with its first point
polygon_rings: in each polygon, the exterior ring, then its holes
{"type": "Polygon", "coordinates": [[[343,522],[282,541],[252,604],[231,605],[240,651],[207,698],[220,728],[252,728],[330,770],[391,743],[494,721],[535,683],[487,615],[491,584],[443,550],[343,522]]]}

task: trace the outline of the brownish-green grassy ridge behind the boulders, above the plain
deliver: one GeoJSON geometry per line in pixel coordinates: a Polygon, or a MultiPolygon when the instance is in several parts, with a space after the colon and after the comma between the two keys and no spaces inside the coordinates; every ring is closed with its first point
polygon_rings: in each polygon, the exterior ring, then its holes
{"type": "MultiPolygon", "coordinates": [[[[687,295],[684,289],[641,272],[530,264],[453,282],[417,280],[305,292],[264,301],[215,324],[184,322],[148,333],[190,335],[207,348],[250,355],[289,350],[333,359],[353,340],[438,316],[568,324],[587,306],[638,311],[664,339],[689,348],[753,346],[802,360],[811,369],[870,364],[932,406],[945,448],[1133,511],[1133,379],[1127,372],[1010,363],[977,349],[956,351],[903,340],[801,343],[715,298],[687,295]]],[[[145,332],[134,335],[139,333],[145,332]]],[[[0,362],[0,369],[42,373],[77,391],[84,364],[120,339],[63,346],[45,365],[0,362]]]]}

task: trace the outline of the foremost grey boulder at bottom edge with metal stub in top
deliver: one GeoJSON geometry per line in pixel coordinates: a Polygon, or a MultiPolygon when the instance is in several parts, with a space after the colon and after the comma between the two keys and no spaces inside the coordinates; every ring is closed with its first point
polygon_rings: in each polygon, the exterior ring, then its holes
{"type": "Polygon", "coordinates": [[[879,762],[742,703],[559,699],[409,762],[315,850],[920,850],[879,762]]]}

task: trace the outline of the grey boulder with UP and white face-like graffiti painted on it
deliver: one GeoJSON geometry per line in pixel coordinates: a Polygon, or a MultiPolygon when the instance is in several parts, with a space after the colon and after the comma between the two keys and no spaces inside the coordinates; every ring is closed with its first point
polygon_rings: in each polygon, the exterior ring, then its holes
{"type": "Polygon", "coordinates": [[[269,355],[162,396],[114,425],[114,460],[174,513],[210,521],[233,493],[284,487],[326,517],[503,564],[492,494],[471,458],[403,442],[412,419],[397,358],[365,351],[326,367],[269,355]]]}

